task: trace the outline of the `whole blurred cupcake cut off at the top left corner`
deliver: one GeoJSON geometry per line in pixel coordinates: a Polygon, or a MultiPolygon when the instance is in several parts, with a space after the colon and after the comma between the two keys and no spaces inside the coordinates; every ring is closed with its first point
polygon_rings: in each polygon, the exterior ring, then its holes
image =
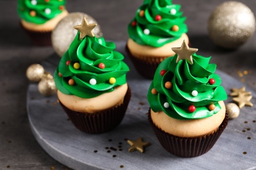
{"type": "Polygon", "coordinates": [[[51,45],[51,32],[68,15],[66,0],[18,0],[20,25],[33,44],[51,45]]]}

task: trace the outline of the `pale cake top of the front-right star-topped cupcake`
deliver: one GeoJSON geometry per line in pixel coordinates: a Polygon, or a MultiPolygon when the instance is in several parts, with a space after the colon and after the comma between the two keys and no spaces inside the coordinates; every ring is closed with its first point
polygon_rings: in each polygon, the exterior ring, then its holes
{"type": "Polygon", "coordinates": [[[212,133],[219,128],[224,120],[226,108],[223,101],[219,101],[221,110],[208,118],[196,120],[177,120],[165,114],[151,110],[151,118],[154,124],[161,130],[178,137],[200,137],[212,133]]]}

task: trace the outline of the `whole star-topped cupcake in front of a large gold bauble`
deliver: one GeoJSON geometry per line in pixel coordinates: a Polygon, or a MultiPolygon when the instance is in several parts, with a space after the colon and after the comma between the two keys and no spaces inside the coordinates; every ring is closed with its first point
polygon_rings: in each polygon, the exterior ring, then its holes
{"type": "Polygon", "coordinates": [[[125,115],[131,98],[126,82],[129,67],[114,42],[95,37],[83,18],[77,35],[54,73],[58,100],[77,129],[104,133],[114,129],[125,115]]]}

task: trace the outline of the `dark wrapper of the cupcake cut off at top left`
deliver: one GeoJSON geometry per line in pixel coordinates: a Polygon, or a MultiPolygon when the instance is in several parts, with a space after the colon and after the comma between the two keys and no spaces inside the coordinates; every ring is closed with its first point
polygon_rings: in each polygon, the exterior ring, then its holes
{"type": "Polygon", "coordinates": [[[26,31],[28,36],[30,37],[33,44],[37,46],[51,46],[51,34],[52,31],[33,31],[30,29],[26,29],[22,24],[21,27],[26,31]]]}

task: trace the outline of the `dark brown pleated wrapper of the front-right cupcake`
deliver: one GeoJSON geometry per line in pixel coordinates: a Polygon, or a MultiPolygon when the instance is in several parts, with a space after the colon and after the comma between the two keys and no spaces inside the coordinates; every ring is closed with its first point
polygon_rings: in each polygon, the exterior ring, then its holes
{"type": "Polygon", "coordinates": [[[225,118],[217,131],[205,135],[204,137],[177,137],[166,133],[156,127],[153,123],[150,111],[148,113],[148,121],[150,122],[156,137],[158,137],[158,141],[160,141],[161,146],[163,146],[165,150],[176,156],[186,158],[205,154],[213,147],[228,124],[228,114],[226,113],[225,118]]]}

